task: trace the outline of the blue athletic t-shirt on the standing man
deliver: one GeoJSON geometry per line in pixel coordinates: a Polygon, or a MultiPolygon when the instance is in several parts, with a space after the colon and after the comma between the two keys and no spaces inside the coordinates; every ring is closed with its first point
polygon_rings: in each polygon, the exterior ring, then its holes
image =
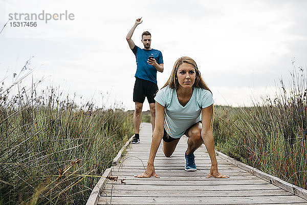
{"type": "Polygon", "coordinates": [[[151,66],[147,63],[148,57],[153,56],[158,64],[163,64],[162,53],[159,50],[151,49],[140,49],[135,46],[132,49],[133,53],[136,55],[137,60],[137,72],[135,77],[149,80],[155,84],[157,84],[157,69],[154,66],[151,66]]]}

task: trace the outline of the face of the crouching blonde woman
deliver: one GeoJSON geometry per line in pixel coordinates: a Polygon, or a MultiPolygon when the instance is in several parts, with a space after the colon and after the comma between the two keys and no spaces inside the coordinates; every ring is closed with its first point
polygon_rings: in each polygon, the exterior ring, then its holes
{"type": "Polygon", "coordinates": [[[195,68],[192,64],[183,63],[178,67],[177,78],[179,87],[192,88],[195,81],[195,68]]]}

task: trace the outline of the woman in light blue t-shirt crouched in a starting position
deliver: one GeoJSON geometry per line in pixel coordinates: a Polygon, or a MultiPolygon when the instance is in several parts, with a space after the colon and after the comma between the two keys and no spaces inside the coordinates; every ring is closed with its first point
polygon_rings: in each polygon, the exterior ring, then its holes
{"type": "Polygon", "coordinates": [[[207,178],[228,178],[217,170],[212,134],[213,98],[212,93],[201,77],[201,73],[190,58],[179,58],[171,71],[170,77],[156,97],[156,126],[153,131],[147,168],[135,177],[159,176],[155,172],[153,161],[161,140],[163,152],[170,157],[182,135],[188,137],[185,152],[185,170],[196,171],[194,151],[203,143],[211,159],[210,173],[207,178]]]}

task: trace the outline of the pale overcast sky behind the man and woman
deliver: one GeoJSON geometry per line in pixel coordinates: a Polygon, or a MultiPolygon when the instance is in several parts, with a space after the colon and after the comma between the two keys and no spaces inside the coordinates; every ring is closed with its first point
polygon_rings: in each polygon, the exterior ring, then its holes
{"type": "MultiPolygon", "coordinates": [[[[0,34],[1,78],[12,81],[31,57],[33,79],[46,77],[38,89],[59,87],[97,106],[120,104],[134,109],[135,55],[126,35],[151,33],[151,48],[163,54],[164,85],[174,62],[192,57],[213,92],[216,105],[251,105],[251,96],[275,90],[295,65],[307,63],[307,1],[4,1],[0,29],[9,13],[68,13],[74,20],[33,20],[36,27],[11,27],[0,34]]],[[[21,22],[19,20],[19,22],[21,22]]],[[[24,84],[31,86],[31,77],[24,84]]],[[[149,108],[145,99],[143,110],[149,108]]]]}

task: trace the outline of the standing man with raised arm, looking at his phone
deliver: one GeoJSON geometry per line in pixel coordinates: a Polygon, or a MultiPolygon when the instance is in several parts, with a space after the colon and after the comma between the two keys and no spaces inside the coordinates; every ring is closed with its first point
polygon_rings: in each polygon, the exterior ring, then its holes
{"type": "Polygon", "coordinates": [[[134,26],[130,29],[126,37],[129,47],[135,54],[137,60],[136,81],[133,91],[133,101],[136,104],[133,118],[135,136],[131,141],[132,144],[138,144],[140,142],[139,131],[145,97],[147,97],[150,107],[152,131],[155,129],[156,101],[154,98],[158,92],[157,71],[163,72],[163,57],[161,51],[150,48],[151,34],[148,31],[142,33],[141,41],[144,45],[143,49],[137,47],[131,39],[134,30],[142,22],[143,20],[141,21],[141,18],[136,19],[134,26]]]}

